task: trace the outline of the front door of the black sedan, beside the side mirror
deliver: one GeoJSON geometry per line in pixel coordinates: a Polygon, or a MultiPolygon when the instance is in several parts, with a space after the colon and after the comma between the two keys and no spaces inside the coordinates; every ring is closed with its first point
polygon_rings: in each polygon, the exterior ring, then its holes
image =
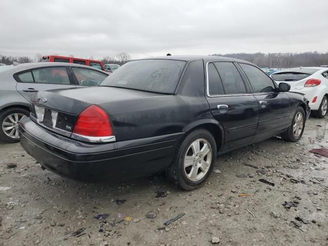
{"type": "Polygon", "coordinates": [[[289,96],[279,92],[274,81],[259,68],[245,63],[238,64],[258,101],[259,121],[254,140],[265,139],[284,131],[291,123],[289,96]]]}

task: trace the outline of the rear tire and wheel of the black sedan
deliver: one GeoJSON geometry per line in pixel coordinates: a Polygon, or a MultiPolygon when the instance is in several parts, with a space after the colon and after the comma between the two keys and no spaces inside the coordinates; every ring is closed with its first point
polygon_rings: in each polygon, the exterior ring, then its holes
{"type": "Polygon", "coordinates": [[[189,133],[179,144],[167,176],[183,190],[201,187],[211,174],[216,161],[213,135],[198,129],[189,133]]]}

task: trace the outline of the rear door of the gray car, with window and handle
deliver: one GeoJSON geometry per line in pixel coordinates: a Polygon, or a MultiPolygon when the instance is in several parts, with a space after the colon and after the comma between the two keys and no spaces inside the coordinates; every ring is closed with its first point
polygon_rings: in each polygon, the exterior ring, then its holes
{"type": "Polygon", "coordinates": [[[16,90],[27,100],[37,91],[76,88],[66,67],[43,67],[19,72],[14,75],[17,80],[16,90]]]}

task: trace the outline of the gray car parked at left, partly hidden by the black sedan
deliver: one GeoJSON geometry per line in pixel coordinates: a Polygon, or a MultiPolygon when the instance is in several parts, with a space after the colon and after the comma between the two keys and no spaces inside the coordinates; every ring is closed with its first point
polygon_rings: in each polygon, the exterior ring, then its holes
{"type": "Polygon", "coordinates": [[[0,140],[19,141],[18,123],[37,91],[98,86],[107,73],[70,63],[26,63],[0,69],[0,140]]]}

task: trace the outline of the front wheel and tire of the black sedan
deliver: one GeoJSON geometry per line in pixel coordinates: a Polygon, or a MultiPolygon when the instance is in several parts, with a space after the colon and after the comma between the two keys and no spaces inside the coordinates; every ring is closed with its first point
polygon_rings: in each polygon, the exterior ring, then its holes
{"type": "Polygon", "coordinates": [[[284,141],[297,142],[303,135],[305,127],[305,112],[302,107],[298,107],[290,127],[281,133],[281,137],[284,141]]]}

